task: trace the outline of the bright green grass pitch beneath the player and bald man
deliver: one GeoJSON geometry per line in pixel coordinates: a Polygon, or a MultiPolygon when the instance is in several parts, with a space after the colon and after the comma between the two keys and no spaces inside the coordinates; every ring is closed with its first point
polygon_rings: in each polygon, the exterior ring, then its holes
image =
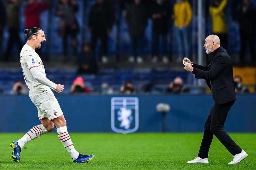
{"type": "Polygon", "coordinates": [[[197,156],[202,133],[70,133],[77,151],[95,155],[89,163],[73,163],[56,132],[51,132],[27,143],[21,151],[21,162],[15,163],[9,144],[22,135],[0,134],[0,169],[256,169],[255,133],[230,133],[249,155],[235,165],[228,164],[232,156],[216,137],[209,164],[186,164],[197,156]]]}

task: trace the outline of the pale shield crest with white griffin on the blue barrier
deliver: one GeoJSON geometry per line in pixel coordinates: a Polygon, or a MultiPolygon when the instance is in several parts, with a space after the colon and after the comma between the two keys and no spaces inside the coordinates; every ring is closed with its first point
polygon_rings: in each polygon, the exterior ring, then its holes
{"type": "Polygon", "coordinates": [[[111,98],[111,129],[117,133],[132,133],[139,128],[139,99],[111,98]]]}

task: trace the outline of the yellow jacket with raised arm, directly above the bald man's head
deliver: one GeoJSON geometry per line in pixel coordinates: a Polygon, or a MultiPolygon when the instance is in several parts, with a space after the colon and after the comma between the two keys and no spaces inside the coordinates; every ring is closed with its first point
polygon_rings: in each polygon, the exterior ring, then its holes
{"type": "Polygon", "coordinates": [[[227,33],[227,24],[224,8],[227,5],[227,0],[222,0],[218,7],[209,7],[212,18],[212,32],[213,33],[227,33]]]}

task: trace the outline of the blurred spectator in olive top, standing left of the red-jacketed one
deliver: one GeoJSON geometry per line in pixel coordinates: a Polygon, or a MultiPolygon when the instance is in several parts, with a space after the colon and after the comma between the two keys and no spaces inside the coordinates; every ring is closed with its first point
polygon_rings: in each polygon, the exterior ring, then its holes
{"type": "MultiPolygon", "coordinates": [[[[20,26],[20,4],[23,0],[5,0],[7,6],[7,27],[9,32],[9,40],[5,52],[4,61],[9,61],[10,51],[13,51],[12,47],[14,44],[18,45],[18,50],[21,50],[22,43],[19,36],[20,26]]],[[[2,17],[2,16],[1,16],[2,17]]]]}

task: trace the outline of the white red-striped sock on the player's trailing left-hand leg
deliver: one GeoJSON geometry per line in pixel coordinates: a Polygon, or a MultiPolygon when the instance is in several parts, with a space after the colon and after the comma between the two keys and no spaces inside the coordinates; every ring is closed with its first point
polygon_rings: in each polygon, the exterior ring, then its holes
{"type": "Polygon", "coordinates": [[[36,139],[37,137],[39,137],[45,133],[47,133],[47,130],[45,129],[43,124],[34,126],[22,138],[20,138],[18,140],[18,144],[19,144],[20,148],[22,149],[27,142],[29,142],[33,139],[36,139]]]}

